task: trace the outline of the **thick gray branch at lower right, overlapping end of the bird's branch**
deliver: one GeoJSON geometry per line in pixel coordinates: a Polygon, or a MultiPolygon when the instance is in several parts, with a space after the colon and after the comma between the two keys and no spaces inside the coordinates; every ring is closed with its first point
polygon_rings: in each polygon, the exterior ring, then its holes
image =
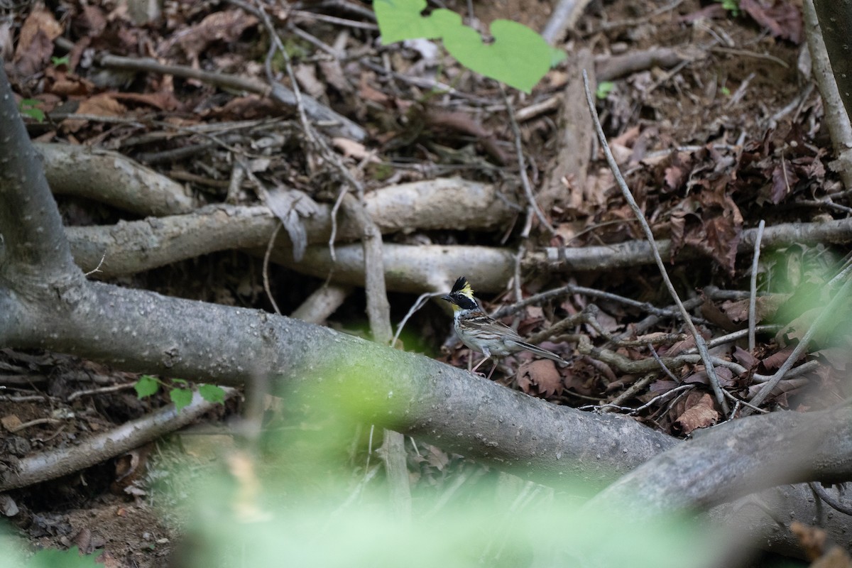
{"type": "Polygon", "coordinates": [[[625,475],[590,506],[642,514],[711,508],[783,483],[852,479],[852,409],[774,412],[700,433],[625,475]]]}

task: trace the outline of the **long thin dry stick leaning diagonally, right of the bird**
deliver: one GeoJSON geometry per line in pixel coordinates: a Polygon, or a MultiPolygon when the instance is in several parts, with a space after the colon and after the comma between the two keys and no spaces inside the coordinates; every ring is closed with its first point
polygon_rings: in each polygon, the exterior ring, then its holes
{"type": "Polygon", "coordinates": [[[725,399],[725,395],[722,393],[722,387],[719,385],[719,377],[716,376],[716,370],[713,368],[710,353],[707,352],[707,345],[705,344],[704,337],[702,337],[701,334],[699,334],[698,330],[695,329],[695,324],[693,323],[692,318],[689,317],[687,309],[683,307],[683,302],[681,301],[680,296],[677,295],[677,291],[675,290],[674,284],[671,284],[671,278],[669,278],[669,274],[665,271],[665,264],[663,263],[662,257],[659,255],[657,244],[653,239],[651,227],[648,226],[648,221],[645,220],[645,215],[642,213],[642,209],[639,209],[639,205],[636,204],[636,199],[634,199],[633,194],[630,193],[630,189],[627,187],[625,178],[622,177],[621,170],[619,170],[619,164],[616,164],[615,158],[613,157],[613,152],[609,149],[609,145],[607,144],[607,136],[603,134],[601,120],[597,117],[597,112],[595,110],[595,101],[592,99],[591,96],[591,90],[589,88],[589,75],[585,72],[585,70],[583,71],[583,84],[586,92],[586,102],[589,105],[589,112],[591,112],[591,119],[592,122],[595,123],[597,137],[601,141],[603,152],[607,157],[607,164],[609,164],[609,169],[613,170],[613,176],[615,177],[616,183],[618,183],[619,185],[621,193],[625,196],[625,201],[627,201],[627,204],[630,205],[630,209],[632,209],[634,215],[636,215],[636,220],[638,220],[639,223],[642,225],[642,231],[645,232],[645,238],[648,239],[648,244],[651,246],[653,260],[657,262],[657,267],[659,268],[660,276],[663,277],[665,287],[669,290],[671,298],[677,304],[677,308],[681,312],[683,322],[687,325],[689,333],[691,333],[694,337],[695,347],[698,347],[699,353],[701,355],[701,360],[704,362],[705,369],[707,372],[707,378],[710,380],[710,384],[713,388],[713,393],[716,395],[716,400],[719,404],[719,408],[721,408],[722,412],[724,412],[727,416],[728,413],[730,413],[730,407],[728,406],[728,401],[725,399]]]}

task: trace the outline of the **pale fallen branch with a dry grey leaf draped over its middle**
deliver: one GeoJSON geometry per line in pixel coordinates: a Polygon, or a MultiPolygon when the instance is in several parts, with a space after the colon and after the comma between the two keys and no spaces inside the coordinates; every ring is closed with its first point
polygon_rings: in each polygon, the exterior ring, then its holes
{"type": "MultiPolygon", "coordinates": [[[[406,227],[488,231],[504,227],[515,215],[494,186],[458,179],[390,186],[367,193],[365,202],[367,213],[383,233],[406,227]]],[[[316,209],[314,215],[302,219],[308,244],[325,243],[331,234],[331,206],[317,204],[316,209]]],[[[68,227],[66,232],[78,265],[89,272],[104,259],[101,277],[108,278],[216,250],[265,248],[277,222],[263,206],[210,205],[187,215],[114,226],[68,227]]],[[[359,224],[344,215],[337,238],[352,241],[360,235],[359,224]]],[[[293,247],[285,233],[276,246],[292,258],[293,247]]]]}

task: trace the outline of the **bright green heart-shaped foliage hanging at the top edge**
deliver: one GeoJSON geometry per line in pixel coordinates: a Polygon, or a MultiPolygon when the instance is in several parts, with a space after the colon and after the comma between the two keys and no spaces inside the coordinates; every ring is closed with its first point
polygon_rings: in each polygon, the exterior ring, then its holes
{"type": "Polygon", "coordinates": [[[383,43],[425,37],[443,39],[444,47],[464,66],[529,93],[551,65],[565,58],[544,38],[511,20],[494,20],[492,43],[483,43],[479,32],[462,25],[458,14],[436,9],[423,16],[425,0],[374,0],[383,43]]]}

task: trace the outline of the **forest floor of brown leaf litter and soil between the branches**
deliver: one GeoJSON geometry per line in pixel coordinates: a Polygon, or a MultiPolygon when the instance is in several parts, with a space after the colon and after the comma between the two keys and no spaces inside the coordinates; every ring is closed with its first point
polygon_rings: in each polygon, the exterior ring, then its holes
{"type": "MultiPolygon", "coordinates": [[[[803,56],[806,48],[801,13],[793,3],[775,4],[773,9],[752,6],[752,12],[734,15],[721,4],[697,0],[663,7],[649,1],[591,3],[568,34],[567,43],[560,44],[567,48],[569,61],[548,73],[532,95],[509,89],[509,100],[521,125],[527,173],[535,192],[541,190],[551,196],[543,204],[555,229],[548,232],[533,221],[527,250],[643,238],[600,155],[591,162],[582,186],[570,179],[557,180],[554,186],[550,172],[561,151],[559,141],[566,120],[561,116],[577,112],[563,108],[566,103],[560,95],[567,83],[577,80],[570,62],[580,49],[590,49],[599,58],[599,76],[611,73],[604,66],[614,57],[670,49],[665,64],[634,63],[628,72],[613,74],[608,79],[608,91],[598,100],[598,110],[654,234],[672,238],[676,248],[691,244],[705,254],[703,261],[671,265],[678,287],[688,297],[699,299],[697,305],[702,308],[696,313],[704,318],[699,320],[704,322],[703,329],[711,336],[742,329],[751,276],[751,255],[736,254],[742,231],[757,227],[761,220],[770,226],[820,221],[844,217],[850,210],[837,176],[827,167],[832,148],[820,96],[810,83],[809,59],[807,54],[803,56]],[[533,111],[544,102],[548,104],[542,110],[533,111]],[[563,194],[558,191],[560,183],[563,194]],[[547,184],[550,188],[545,187],[547,184]],[[702,296],[699,290],[710,286],[741,293],[724,296],[706,292],[702,296]]],[[[365,141],[335,141],[338,152],[345,155],[366,190],[458,175],[497,184],[507,194],[515,192],[520,185],[515,137],[498,84],[463,69],[440,49],[430,51],[428,43],[380,47],[374,20],[364,6],[306,2],[292,12],[286,6],[267,9],[283,30],[302,90],[366,129],[365,141]],[[306,40],[303,33],[298,35],[299,30],[319,39],[325,48],[331,46],[337,58],[306,40]],[[437,83],[452,84],[452,94],[430,94],[429,85],[437,83]]],[[[465,3],[450,2],[446,7],[466,14],[465,3]]],[[[521,0],[475,3],[474,7],[482,29],[494,19],[506,18],[537,31],[549,19],[551,9],[550,3],[521,0]]],[[[30,103],[32,108],[48,113],[46,121],[28,121],[34,139],[117,150],[186,184],[199,203],[208,204],[226,199],[238,204],[258,202],[256,192],[245,187],[236,194],[228,191],[233,168],[228,154],[233,147],[259,152],[260,144],[268,141],[278,144],[279,152],[263,164],[260,160],[253,162],[251,175],[285,181],[317,201],[333,202],[336,198],[337,190],[329,189],[334,187],[333,175],[321,168],[320,175],[312,175],[308,164],[311,153],[302,137],[293,134],[299,127],[292,112],[260,96],[234,95],[231,90],[217,89],[197,79],[117,72],[94,64],[95,54],[108,52],[155,57],[164,64],[265,81],[263,60],[269,40],[256,15],[241,3],[167,2],[159,17],[150,22],[146,14],[130,14],[109,1],[60,0],[51,9],[37,4],[28,9],[31,11],[14,14],[9,24],[0,24],[0,32],[5,32],[0,33],[0,49],[4,54],[14,54],[7,69],[15,92],[21,99],[37,101],[30,103]],[[48,37],[35,30],[47,31],[48,37]],[[22,43],[28,44],[26,49],[22,43]],[[65,60],[51,60],[66,55],[65,60]],[[63,113],[68,112],[89,118],[67,119],[63,113]],[[217,124],[254,119],[261,119],[259,124],[265,123],[267,129],[257,129],[253,134],[245,126],[230,132],[224,127],[216,129],[217,124]],[[181,130],[201,124],[211,126],[206,137],[181,130]],[[204,146],[206,150],[186,154],[186,158],[169,154],[210,141],[204,146]]],[[[282,66],[280,57],[273,60],[279,77],[285,77],[282,66]]],[[[581,112],[584,105],[583,101],[579,106],[581,112]]],[[[83,198],[58,199],[69,226],[106,225],[133,218],[83,198]]],[[[476,213],[470,211],[470,215],[476,213]]],[[[500,227],[497,232],[398,234],[389,239],[497,246],[508,236],[509,244],[517,244],[523,223],[523,216],[518,215],[514,227],[500,227]]],[[[763,260],[759,274],[762,290],[792,293],[804,282],[824,283],[826,270],[842,255],[817,244],[787,247],[763,260]]],[[[261,261],[256,258],[225,252],[112,281],[202,301],[271,310],[262,272],[261,261]]],[[[269,273],[271,291],[285,314],[299,306],[308,293],[305,290],[313,290],[322,282],[283,267],[270,267],[269,273]]],[[[523,291],[534,294],[569,283],[659,307],[671,304],[653,267],[538,275],[525,281],[523,291]]],[[[818,296],[811,294],[805,301],[811,301],[810,306],[819,305],[822,300],[818,296]]],[[[389,299],[396,324],[415,298],[397,292],[389,299]]],[[[511,303],[513,295],[507,292],[483,299],[486,307],[494,309],[511,303]]],[[[521,319],[521,334],[529,335],[555,313],[580,313],[590,301],[587,296],[574,294],[550,302],[544,311],[530,308],[521,319]]],[[[600,310],[596,316],[599,329],[579,324],[593,341],[607,334],[630,333],[631,326],[645,315],[641,309],[617,301],[595,301],[600,310]]],[[[769,321],[766,314],[775,307],[777,304],[769,307],[769,302],[759,307],[764,310],[763,322],[769,321]]],[[[363,298],[353,296],[329,324],[362,333],[363,309],[363,298]]],[[[771,375],[780,366],[790,353],[789,342],[801,336],[809,321],[807,309],[796,309],[786,319],[776,320],[790,323],[801,317],[789,326],[786,335],[763,333],[751,353],[741,347],[728,350],[725,356],[749,371],[745,375],[722,372],[723,387],[746,397],[753,392],[750,389],[759,387],[751,382],[751,375],[771,375]]],[[[449,335],[448,322],[437,307],[423,309],[407,324],[418,330],[419,338],[409,340],[411,344],[406,347],[458,366],[467,364],[469,353],[465,349],[451,345],[440,351],[449,335]]],[[[656,327],[642,330],[642,337],[648,341],[652,333],[676,337],[676,341],[656,345],[660,355],[672,356],[690,347],[690,339],[677,335],[681,332],[664,319],[656,327]]],[[[809,359],[819,360],[820,365],[799,376],[799,382],[785,382],[765,404],[813,409],[848,395],[841,386],[845,367],[839,353],[848,347],[845,337],[817,343],[809,359]],[[803,388],[804,384],[819,388],[803,388]]],[[[544,343],[544,347],[571,359],[567,369],[556,370],[552,364],[546,369],[527,365],[517,373],[499,371],[498,380],[555,404],[576,407],[613,401],[622,407],[637,407],[677,384],[692,384],[693,390],[660,400],[635,413],[636,419],[675,435],[718,420],[719,409],[700,364],[685,365],[677,381],[662,376],[644,392],[617,399],[638,374],[613,370],[612,365],[587,357],[572,357],[572,346],[571,341],[544,343]]],[[[618,353],[628,359],[644,358],[648,357],[646,347],[642,343],[624,344],[618,353]]],[[[138,399],[133,389],[138,378],[60,354],[3,350],[0,455],[20,458],[81,444],[91,433],[168,404],[165,393],[138,399]],[[116,388],[104,388],[113,386],[116,388]],[[88,393],[90,389],[95,392],[88,393]],[[41,420],[45,417],[49,420],[41,420]]],[[[221,420],[234,412],[233,405],[228,406],[210,419],[221,420]]],[[[20,535],[37,546],[77,545],[87,552],[102,548],[107,565],[163,565],[181,536],[183,513],[180,500],[174,496],[181,494],[181,484],[192,484],[192,479],[175,479],[168,472],[178,462],[184,467],[191,462],[190,469],[215,468],[217,451],[221,450],[215,446],[231,443],[225,439],[210,433],[181,435],[180,439],[149,445],[83,472],[12,491],[9,495],[20,513],[11,520],[20,535]],[[160,491],[163,484],[170,485],[169,492],[160,491]]],[[[428,462],[423,463],[420,479],[449,461],[447,456],[435,457],[438,454],[440,450],[435,449],[431,456],[420,458],[428,462]]]]}

